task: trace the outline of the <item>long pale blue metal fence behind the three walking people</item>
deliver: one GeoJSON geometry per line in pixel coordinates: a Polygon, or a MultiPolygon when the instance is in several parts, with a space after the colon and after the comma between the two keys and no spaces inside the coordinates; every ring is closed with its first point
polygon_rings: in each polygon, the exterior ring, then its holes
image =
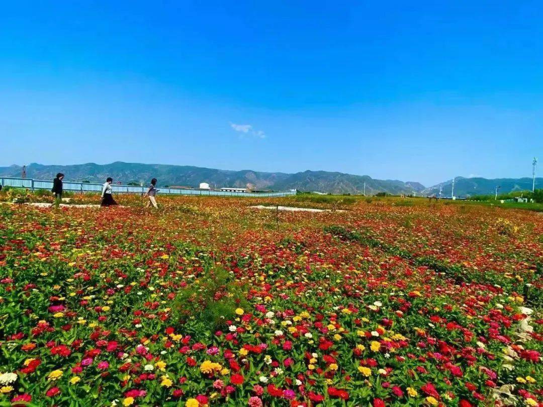
{"type": "MultiPolygon", "coordinates": [[[[29,178],[10,178],[0,177],[0,185],[2,187],[28,188],[35,189],[52,189],[53,181],[33,180],[29,178]]],[[[141,194],[147,192],[148,187],[139,187],[132,185],[111,185],[113,193],[116,194],[141,194]]],[[[62,189],[71,192],[102,192],[102,184],[88,182],[73,182],[63,181],[62,189]]],[[[280,192],[230,192],[207,189],[182,189],[182,188],[157,188],[160,194],[169,195],[210,195],[210,196],[288,196],[296,195],[295,190],[280,191],[280,192]]]]}

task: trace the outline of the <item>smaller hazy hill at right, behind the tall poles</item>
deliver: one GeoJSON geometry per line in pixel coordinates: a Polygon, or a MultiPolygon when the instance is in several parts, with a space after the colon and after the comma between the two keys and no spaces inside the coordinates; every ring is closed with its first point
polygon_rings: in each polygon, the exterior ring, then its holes
{"type": "MultiPolygon", "coordinates": [[[[470,195],[491,195],[494,194],[494,188],[500,186],[498,193],[508,193],[515,191],[532,190],[531,178],[464,178],[456,177],[454,180],[454,195],[455,196],[470,196],[470,195]]],[[[543,188],[543,178],[535,179],[535,187],[543,188]]],[[[451,196],[452,180],[445,181],[441,184],[441,195],[451,196]]],[[[433,187],[426,188],[422,191],[424,195],[438,195],[439,184],[433,187]]]]}

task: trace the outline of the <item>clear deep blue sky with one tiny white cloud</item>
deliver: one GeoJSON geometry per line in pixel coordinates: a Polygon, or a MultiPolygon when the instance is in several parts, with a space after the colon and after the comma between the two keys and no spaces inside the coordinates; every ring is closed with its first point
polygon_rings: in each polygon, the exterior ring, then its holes
{"type": "MultiPolygon", "coordinates": [[[[433,185],[543,158],[543,3],[4,2],[0,166],[433,185]]],[[[543,170],[542,170],[543,171],[543,170]]]]}

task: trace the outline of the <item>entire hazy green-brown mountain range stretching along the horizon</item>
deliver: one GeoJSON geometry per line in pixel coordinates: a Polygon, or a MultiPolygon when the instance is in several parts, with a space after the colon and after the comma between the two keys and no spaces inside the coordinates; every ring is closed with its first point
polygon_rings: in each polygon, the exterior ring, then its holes
{"type": "MultiPolygon", "coordinates": [[[[20,166],[0,167],[0,176],[20,177],[20,166]]],[[[68,166],[45,166],[31,163],[26,168],[27,177],[37,180],[50,180],[56,173],[65,174],[66,181],[104,182],[111,176],[115,182],[123,184],[135,182],[146,185],[153,177],[160,186],[198,187],[207,182],[211,187],[250,187],[254,189],[286,190],[321,193],[351,193],[374,195],[379,192],[389,194],[430,195],[439,194],[439,185],[426,188],[420,182],[399,180],[377,180],[368,175],[352,175],[331,171],[303,171],[294,174],[267,173],[252,170],[220,170],[193,166],[174,166],[168,164],[140,164],[113,162],[111,164],[74,164],[68,166]]],[[[543,179],[536,179],[543,185],[543,179]]],[[[465,196],[489,194],[500,185],[500,192],[532,189],[532,179],[497,179],[456,177],[454,195],[465,196]]],[[[442,183],[441,194],[451,195],[452,180],[442,183]]]]}

